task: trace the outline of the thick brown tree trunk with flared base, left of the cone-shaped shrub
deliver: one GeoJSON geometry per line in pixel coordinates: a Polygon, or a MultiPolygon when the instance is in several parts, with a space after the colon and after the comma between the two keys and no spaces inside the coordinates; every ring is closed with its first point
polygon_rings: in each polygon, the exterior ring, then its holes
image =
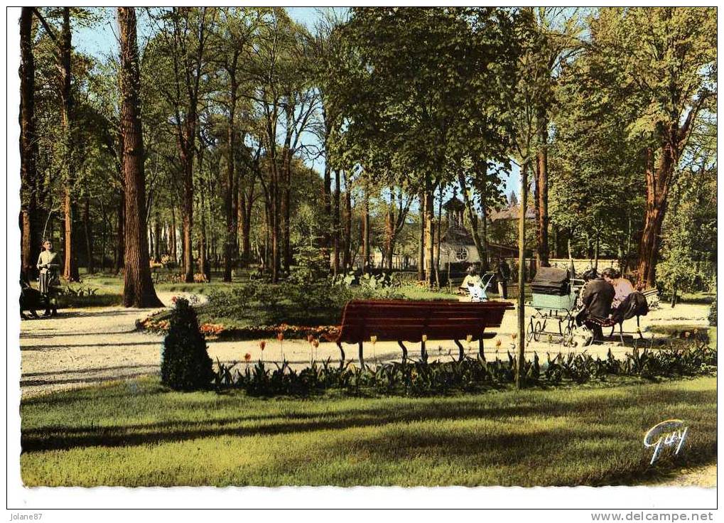
{"type": "Polygon", "coordinates": [[[140,120],[140,70],[135,8],[118,8],[120,40],[120,134],[123,137],[125,187],[125,275],[123,305],[163,306],[151,281],[146,243],[146,178],[143,174],[143,133],[140,120]]]}

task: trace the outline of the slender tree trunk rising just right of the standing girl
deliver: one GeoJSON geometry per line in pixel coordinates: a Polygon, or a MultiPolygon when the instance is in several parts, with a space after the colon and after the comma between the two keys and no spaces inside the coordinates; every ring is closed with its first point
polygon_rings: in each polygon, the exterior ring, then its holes
{"type": "Polygon", "coordinates": [[[70,53],[72,50],[72,41],[70,33],[70,7],[63,8],[63,30],[62,42],[60,46],[60,62],[61,62],[61,93],[62,101],[62,118],[63,118],[63,146],[64,146],[64,176],[63,176],[63,216],[65,221],[65,236],[63,243],[64,250],[64,266],[63,277],[67,281],[78,281],[78,264],[75,258],[75,238],[73,235],[73,211],[71,187],[73,177],[72,167],[72,128],[71,128],[71,111],[72,111],[72,94],[71,94],[71,69],[70,69],[70,53]]]}

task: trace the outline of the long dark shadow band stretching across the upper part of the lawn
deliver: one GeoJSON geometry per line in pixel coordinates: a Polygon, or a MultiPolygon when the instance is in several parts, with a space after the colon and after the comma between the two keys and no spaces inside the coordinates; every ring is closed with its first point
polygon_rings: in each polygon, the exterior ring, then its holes
{"type": "MultiPolygon", "coordinates": [[[[117,379],[117,378],[116,378],[117,379]]],[[[130,395],[119,395],[129,398],[130,395]]],[[[103,396],[106,398],[107,396],[103,396]]],[[[72,398],[72,396],[71,396],[72,398]]],[[[146,398],[148,399],[148,398],[146,398]]],[[[29,402],[32,403],[32,402],[29,402]]],[[[382,403],[382,401],[378,402],[382,403]]],[[[648,411],[667,412],[665,407],[685,404],[701,407],[709,403],[715,409],[715,392],[686,390],[658,390],[656,393],[641,391],[638,397],[588,398],[575,403],[549,402],[544,404],[524,404],[515,406],[484,406],[473,400],[453,400],[436,403],[424,401],[416,403],[409,411],[399,406],[380,404],[374,409],[353,409],[339,413],[320,412],[319,414],[287,415],[279,414],[263,417],[269,421],[278,420],[269,425],[249,427],[245,423],[258,421],[258,417],[231,417],[223,419],[208,418],[203,421],[172,421],[151,424],[118,425],[115,427],[96,426],[44,426],[22,430],[22,449],[25,452],[60,450],[85,446],[130,446],[182,441],[195,438],[214,438],[233,435],[237,437],[253,435],[278,435],[292,432],[316,430],[342,430],[361,427],[382,427],[392,423],[429,422],[461,419],[509,419],[510,417],[571,417],[599,425],[609,424],[616,427],[619,419],[614,411],[622,413],[630,409],[632,403],[646,406],[648,411]],[[605,414],[602,414],[605,409],[605,414]],[[330,419],[331,418],[331,419],[330,419]],[[302,423],[289,423],[289,419],[307,419],[302,423]],[[237,424],[235,427],[227,425],[237,424]],[[203,425],[204,427],[201,427],[203,425]],[[140,431],[140,432],[138,432],[140,431]]],[[[160,407],[160,405],[159,405],[160,407]]],[[[623,415],[622,415],[623,416],[623,415]]],[[[623,416],[625,417],[625,416],[623,416]]],[[[660,421],[652,419],[655,423],[660,421]]]]}

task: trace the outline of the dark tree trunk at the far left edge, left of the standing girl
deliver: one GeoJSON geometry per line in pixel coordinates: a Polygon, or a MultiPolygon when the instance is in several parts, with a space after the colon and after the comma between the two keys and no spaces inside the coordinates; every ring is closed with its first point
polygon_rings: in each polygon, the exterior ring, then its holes
{"type": "Polygon", "coordinates": [[[35,167],[38,141],[35,135],[35,59],[33,57],[33,7],[20,12],[20,270],[26,281],[35,271],[41,238],[38,216],[35,167]]]}

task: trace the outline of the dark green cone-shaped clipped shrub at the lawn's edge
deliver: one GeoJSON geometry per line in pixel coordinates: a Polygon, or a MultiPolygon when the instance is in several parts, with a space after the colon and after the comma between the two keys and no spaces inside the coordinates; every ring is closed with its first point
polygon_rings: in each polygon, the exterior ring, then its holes
{"type": "Polygon", "coordinates": [[[214,369],[196,311],[188,300],[177,298],[164,338],[161,382],[174,390],[203,390],[213,379],[214,369]]]}

